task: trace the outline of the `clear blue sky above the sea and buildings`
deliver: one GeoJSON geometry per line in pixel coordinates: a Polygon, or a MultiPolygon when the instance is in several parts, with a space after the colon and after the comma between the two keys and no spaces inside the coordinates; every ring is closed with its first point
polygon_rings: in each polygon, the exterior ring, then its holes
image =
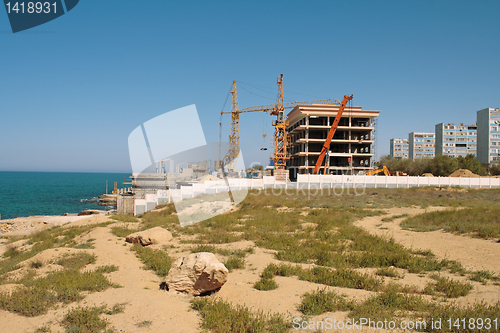
{"type": "MultiPolygon", "coordinates": [[[[0,170],[130,172],[132,130],[191,104],[218,142],[232,80],[266,87],[240,85],[243,108],[274,103],[280,73],[287,101],[380,110],[380,157],[500,107],[499,17],[484,0],[94,0],[13,34],[0,8],[0,170]]],[[[271,120],[241,115],[247,165],[267,163],[271,120]]]]}

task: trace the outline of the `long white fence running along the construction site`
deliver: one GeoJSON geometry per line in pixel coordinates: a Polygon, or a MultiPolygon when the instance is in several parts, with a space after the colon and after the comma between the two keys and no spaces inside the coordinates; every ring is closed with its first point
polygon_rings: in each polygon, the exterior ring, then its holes
{"type": "Polygon", "coordinates": [[[143,214],[157,205],[179,202],[194,198],[199,194],[217,194],[250,189],[346,189],[346,188],[410,188],[410,187],[447,187],[498,188],[500,178],[461,178],[461,177],[413,177],[413,176],[354,176],[354,175],[298,175],[296,182],[277,181],[274,177],[262,179],[229,178],[229,188],[224,180],[206,181],[204,184],[181,186],[180,189],[158,190],[157,194],[146,194],[145,199],[135,199],[134,215],[143,214]]]}

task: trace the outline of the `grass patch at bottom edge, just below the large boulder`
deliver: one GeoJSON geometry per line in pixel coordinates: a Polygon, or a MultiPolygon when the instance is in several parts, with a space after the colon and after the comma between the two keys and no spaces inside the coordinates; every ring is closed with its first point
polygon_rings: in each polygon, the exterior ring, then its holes
{"type": "Polygon", "coordinates": [[[202,328],[211,332],[284,333],[291,328],[280,314],[252,313],[244,306],[209,297],[192,300],[191,307],[200,312],[202,328]]]}

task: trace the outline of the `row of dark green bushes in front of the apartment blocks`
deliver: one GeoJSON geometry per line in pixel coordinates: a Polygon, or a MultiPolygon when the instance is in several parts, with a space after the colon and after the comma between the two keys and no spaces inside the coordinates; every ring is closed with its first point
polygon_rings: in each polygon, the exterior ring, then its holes
{"type": "Polygon", "coordinates": [[[436,156],[431,159],[402,160],[384,156],[379,165],[385,165],[391,171],[402,171],[410,176],[419,176],[424,173],[432,173],[434,176],[447,177],[458,169],[467,169],[481,176],[488,173],[481,163],[472,154],[466,157],[453,158],[446,155],[436,156]]]}

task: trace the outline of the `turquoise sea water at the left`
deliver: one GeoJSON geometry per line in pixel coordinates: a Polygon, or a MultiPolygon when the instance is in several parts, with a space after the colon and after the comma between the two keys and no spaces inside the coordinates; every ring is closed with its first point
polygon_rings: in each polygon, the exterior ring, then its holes
{"type": "MultiPolygon", "coordinates": [[[[79,213],[84,209],[104,209],[81,199],[111,193],[125,173],[4,172],[0,171],[0,215],[2,220],[31,215],[79,213]]],[[[127,185],[130,186],[130,185],[127,185]]]]}

